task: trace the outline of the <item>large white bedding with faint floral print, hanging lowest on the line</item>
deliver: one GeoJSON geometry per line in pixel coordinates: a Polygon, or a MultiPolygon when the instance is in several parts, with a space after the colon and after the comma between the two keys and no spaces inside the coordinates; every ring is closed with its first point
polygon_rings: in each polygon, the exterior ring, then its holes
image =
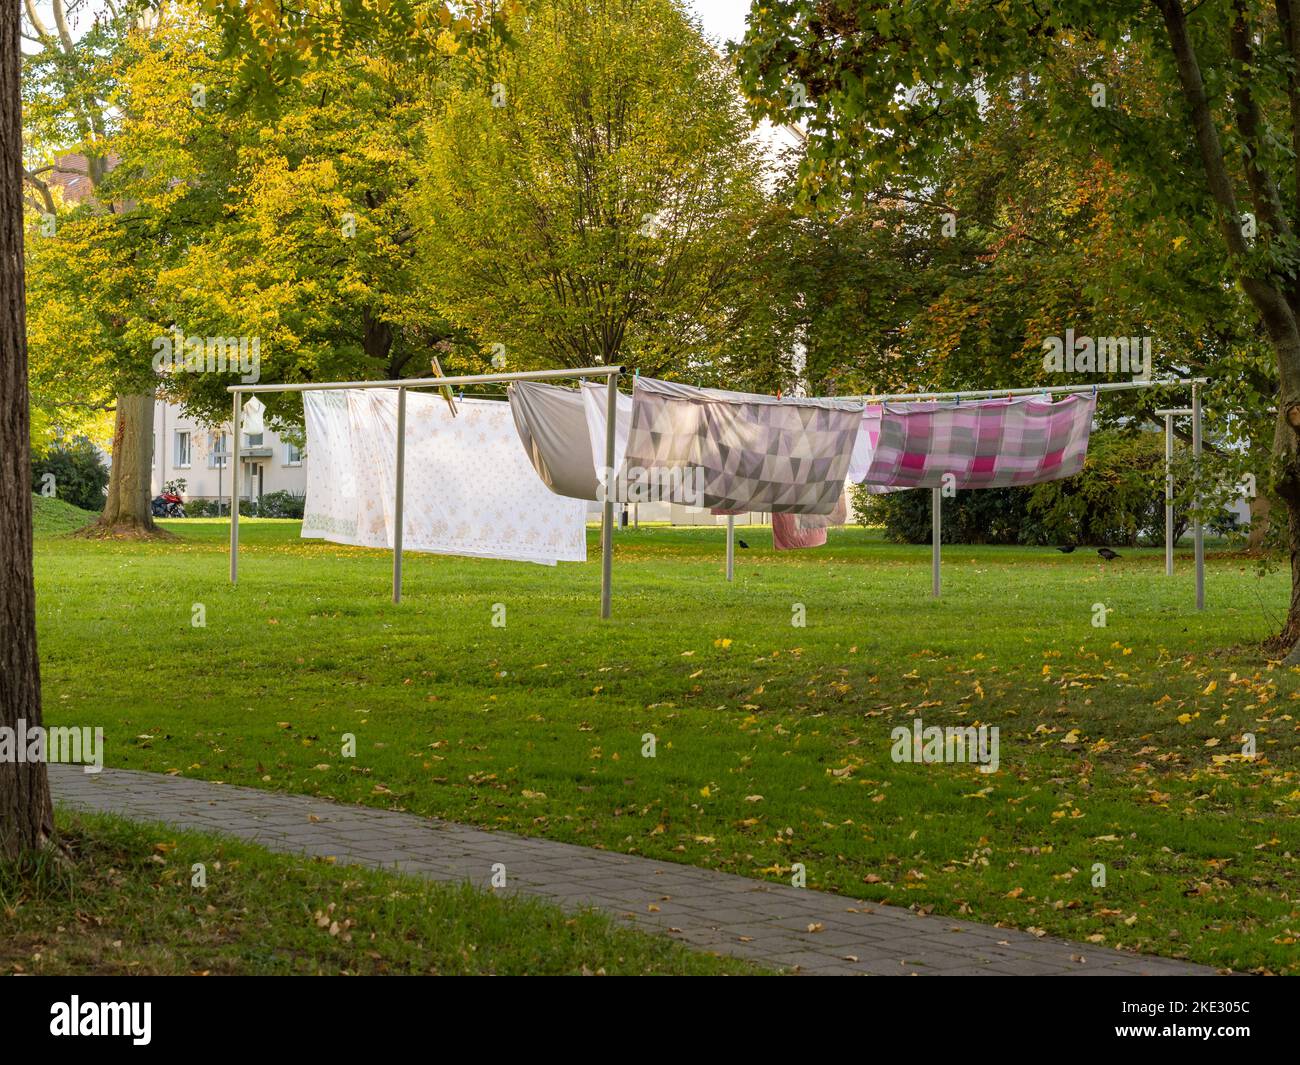
{"type": "MultiPolygon", "coordinates": [[[[348,389],[312,402],[304,534],[391,547],[396,484],[393,389],[348,389]],[[335,395],[346,397],[346,442],[335,395]],[[313,498],[313,497],[320,497],[313,498]],[[351,524],[347,515],[351,514],[351,524]],[[312,529],[312,532],[307,532],[312,529]],[[351,532],[348,532],[351,529],[351,532]]],[[[551,493],[519,446],[510,404],[467,399],[452,416],[438,395],[407,394],[403,549],[554,566],[586,559],[586,505],[551,493]]]]}

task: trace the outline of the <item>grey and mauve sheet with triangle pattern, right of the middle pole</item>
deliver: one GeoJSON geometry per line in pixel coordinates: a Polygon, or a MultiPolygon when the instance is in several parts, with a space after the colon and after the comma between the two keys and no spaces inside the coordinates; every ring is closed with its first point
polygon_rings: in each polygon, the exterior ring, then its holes
{"type": "Polygon", "coordinates": [[[862,408],[638,377],[616,498],[638,498],[632,493],[641,479],[675,503],[829,514],[844,492],[862,408]]]}

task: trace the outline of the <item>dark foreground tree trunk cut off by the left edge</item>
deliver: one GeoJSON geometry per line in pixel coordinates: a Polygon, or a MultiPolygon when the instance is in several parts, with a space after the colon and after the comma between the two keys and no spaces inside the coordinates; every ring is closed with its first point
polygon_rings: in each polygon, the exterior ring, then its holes
{"type": "MultiPolygon", "coordinates": [[[[22,263],[22,96],[18,5],[0,4],[0,727],[40,724],[31,575],[27,322],[22,263]]],[[[53,835],[44,762],[0,762],[0,857],[53,835]]]]}

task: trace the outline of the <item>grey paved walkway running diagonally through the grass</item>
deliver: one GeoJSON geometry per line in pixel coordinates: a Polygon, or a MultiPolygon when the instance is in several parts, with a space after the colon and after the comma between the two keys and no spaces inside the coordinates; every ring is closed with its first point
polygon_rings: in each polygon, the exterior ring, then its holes
{"type": "Polygon", "coordinates": [[[592,906],[707,951],[810,974],[1213,975],[1170,958],[1126,954],[897,906],[750,880],[689,865],[489,832],[415,814],[129,770],[53,765],[66,806],[251,840],[270,850],[395,869],[430,880],[507,887],[592,906]],[[809,931],[814,927],[816,931],[809,931]]]}

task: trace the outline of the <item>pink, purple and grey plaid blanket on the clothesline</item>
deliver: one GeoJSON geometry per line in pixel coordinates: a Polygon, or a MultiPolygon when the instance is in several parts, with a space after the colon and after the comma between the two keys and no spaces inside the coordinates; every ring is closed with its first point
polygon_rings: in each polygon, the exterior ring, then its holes
{"type": "Polygon", "coordinates": [[[850,476],[875,488],[1011,488],[1070,477],[1096,395],[885,403],[863,412],[850,476]],[[945,480],[952,475],[952,480],[945,480]]]}

